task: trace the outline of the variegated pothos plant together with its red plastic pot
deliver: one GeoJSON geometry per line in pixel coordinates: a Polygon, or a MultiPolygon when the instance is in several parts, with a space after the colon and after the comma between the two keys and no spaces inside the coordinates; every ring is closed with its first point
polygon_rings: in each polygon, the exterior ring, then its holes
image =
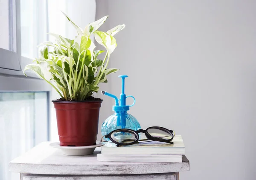
{"type": "Polygon", "coordinates": [[[89,23],[83,30],[64,15],[76,28],[78,36],[70,40],[49,33],[56,38],[55,42],[47,41],[38,46],[39,58],[24,68],[24,74],[28,69],[34,71],[60,95],[60,99],[52,100],[60,145],[90,146],[96,144],[99,108],[103,101],[92,97],[92,94],[98,92],[99,83],[108,82],[108,74],[119,70],[107,67],[110,54],[117,46],[113,36],[125,25],[118,25],[107,32],[98,31],[108,18],[105,16],[89,23]],[[92,34],[106,51],[95,50],[96,46],[90,39],[92,34]],[[105,53],[103,60],[97,58],[101,53],[105,53]]]}

